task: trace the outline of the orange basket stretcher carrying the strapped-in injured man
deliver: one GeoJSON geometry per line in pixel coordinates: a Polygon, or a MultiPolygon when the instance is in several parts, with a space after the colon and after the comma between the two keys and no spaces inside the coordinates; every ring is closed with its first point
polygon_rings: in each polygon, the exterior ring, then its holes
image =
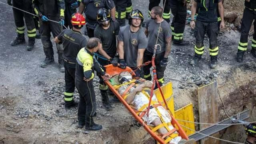
{"type": "MultiPolygon", "coordinates": [[[[129,67],[126,67],[126,69],[121,69],[119,67],[114,67],[112,64],[109,64],[106,67],[106,73],[110,74],[110,76],[116,76],[119,75],[121,72],[132,72],[132,69],[129,67]]],[[[132,72],[132,75],[134,75],[134,73],[132,72]]],[[[124,98],[118,93],[118,91],[114,88],[114,86],[112,86],[110,81],[105,81],[105,83],[108,85],[108,87],[110,88],[110,90],[117,96],[117,98],[120,100],[120,102],[122,102],[122,104],[124,104],[124,106],[132,113],[132,115],[134,116],[134,118],[136,118],[136,120],[138,120],[138,122],[140,122],[140,124],[145,128],[145,130],[160,144],[167,144],[164,140],[164,136],[160,136],[160,134],[158,134],[157,130],[154,129],[152,126],[148,126],[146,124],[146,122],[140,118],[140,116],[138,116],[136,114],[136,110],[134,110],[125,100],[124,98]]],[[[170,114],[171,115],[171,114],[170,114]]],[[[174,127],[175,130],[171,130],[172,132],[168,132],[170,134],[172,134],[173,132],[177,131],[178,132],[178,136],[180,136],[183,139],[188,140],[188,136],[186,135],[186,133],[184,132],[184,130],[182,129],[182,127],[180,126],[180,124],[177,122],[177,120],[174,119],[174,117],[171,115],[172,121],[171,124],[174,127]]],[[[168,142],[168,141],[167,141],[168,142]]]]}

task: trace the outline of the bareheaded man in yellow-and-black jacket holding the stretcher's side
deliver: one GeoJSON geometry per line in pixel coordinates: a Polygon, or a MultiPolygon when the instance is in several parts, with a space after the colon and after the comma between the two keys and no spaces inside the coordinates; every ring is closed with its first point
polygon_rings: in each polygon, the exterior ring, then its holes
{"type": "Polygon", "coordinates": [[[96,115],[96,98],[93,86],[94,70],[98,72],[103,79],[109,79],[100,64],[96,61],[93,52],[97,52],[100,47],[98,38],[90,38],[87,46],[82,48],[76,58],[76,88],[79,92],[78,104],[78,128],[85,125],[87,130],[100,130],[102,125],[95,124],[93,116],[96,115]]]}

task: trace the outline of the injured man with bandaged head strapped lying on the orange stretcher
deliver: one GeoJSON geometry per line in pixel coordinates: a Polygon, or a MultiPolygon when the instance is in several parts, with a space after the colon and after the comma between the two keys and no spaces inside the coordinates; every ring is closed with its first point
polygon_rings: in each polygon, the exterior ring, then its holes
{"type": "MultiPolygon", "coordinates": [[[[150,98],[150,92],[152,87],[151,81],[139,80],[138,84],[135,84],[130,88],[130,90],[127,90],[128,87],[132,84],[130,83],[130,81],[132,80],[132,75],[129,72],[122,72],[119,75],[118,79],[119,82],[122,84],[122,86],[120,86],[118,89],[119,94],[122,96],[127,91],[124,96],[125,101],[132,107],[134,107],[135,110],[140,112],[139,116],[142,116],[142,119],[145,120],[145,122],[148,122],[148,125],[158,126],[162,123],[169,124],[169,126],[163,126],[162,128],[158,129],[158,132],[162,135],[165,135],[169,131],[174,129],[174,127],[170,124],[172,120],[170,114],[166,109],[160,106],[155,94],[153,94],[152,97],[152,106],[150,106],[148,117],[145,114],[150,98]],[[142,113],[144,113],[144,116],[142,113]]],[[[170,138],[170,136],[165,137],[165,140],[167,140],[168,138],[170,139],[169,144],[194,144],[195,142],[194,139],[182,139],[180,136],[178,136],[178,132],[174,132],[171,137],[172,138],[170,138]]]]}

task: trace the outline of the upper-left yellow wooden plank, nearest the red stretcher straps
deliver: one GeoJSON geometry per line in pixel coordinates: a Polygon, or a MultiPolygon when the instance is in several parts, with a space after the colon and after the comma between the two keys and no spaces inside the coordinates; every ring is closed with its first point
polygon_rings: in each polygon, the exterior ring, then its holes
{"type": "MultiPolygon", "coordinates": [[[[172,96],[172,82],[169,82],[168,84],[162,86],[161,90],[164,94],[164,98],[166,100],[168,108],[170,109],[170,111],[174,116],[174,98],[172,96]]],[[[154,94],[156,95],[158,101],[161,102],[161,104],[165,107],[164,100],[162,98],[160,90],[159,89],[154,90],[154,94]]]]}

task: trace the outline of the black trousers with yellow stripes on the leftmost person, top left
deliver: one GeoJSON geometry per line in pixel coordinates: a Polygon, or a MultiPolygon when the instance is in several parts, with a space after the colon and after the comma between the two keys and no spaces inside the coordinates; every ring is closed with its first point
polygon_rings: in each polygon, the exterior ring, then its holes
{"type": "MultiPolygon", "coordinates": [[[[12,4],[14,7],[33,13],[32,0],[13,0],[12,4]]],[[[25,32],[25,24],[23,20],[24,18],[27,29],[28,29],[28,38],[34,40],[36,37],[36,28],[33,21],[33,16],[31,14],[17,10],[16,8],[13,8],[12,10],[13,10],[13,16],[14,16],[15,25],[17,27],[18,35],[24,36],[24,32],[25,32]]]]}

